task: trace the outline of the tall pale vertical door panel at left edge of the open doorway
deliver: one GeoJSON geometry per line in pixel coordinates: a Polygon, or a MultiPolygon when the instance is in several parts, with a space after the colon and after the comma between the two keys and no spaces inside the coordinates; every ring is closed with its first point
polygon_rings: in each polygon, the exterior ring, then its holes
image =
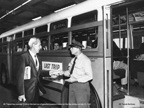
{"type": "Polygon", "coordinates": [[[110,7],[103,6],[104,108],[112,108],[110,7]]]}

